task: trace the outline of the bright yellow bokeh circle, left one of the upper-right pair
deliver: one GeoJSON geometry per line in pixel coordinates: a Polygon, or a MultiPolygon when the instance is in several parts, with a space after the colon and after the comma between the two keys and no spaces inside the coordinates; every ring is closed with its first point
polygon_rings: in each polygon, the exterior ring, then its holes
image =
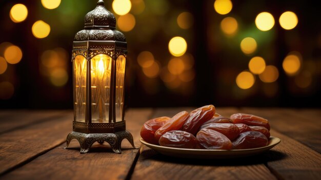
{"type": "Polygon", "coordinates": [[[268,31],[274,26],[274,17],[268,12],[261,12],[255,18],[255,25],[261,31],[268,31]]]}

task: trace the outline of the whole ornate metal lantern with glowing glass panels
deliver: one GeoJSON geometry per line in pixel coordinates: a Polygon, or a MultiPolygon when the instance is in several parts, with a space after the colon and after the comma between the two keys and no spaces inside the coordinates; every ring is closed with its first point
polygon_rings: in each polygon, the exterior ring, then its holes
{"type": "Polygon", "coordinates": [[[74,120],[67,147],[75,138],[81,153],[88,152],[94,142],[107,142],[115,153],[121,153],[124,138],[134,147],[124,120],[127,43],[115,27],[115,16],[99,0],[73,42],[74,120]]]}

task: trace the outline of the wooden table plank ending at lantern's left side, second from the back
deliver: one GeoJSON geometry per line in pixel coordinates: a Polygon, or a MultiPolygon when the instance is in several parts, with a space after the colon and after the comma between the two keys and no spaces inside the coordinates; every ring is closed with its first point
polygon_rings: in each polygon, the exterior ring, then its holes
{"type": "MultiPolygon", "coordinates": [[[[66,141],[72,130],[73,113],[61,113],[54,121],[45,121],[0,136],[0,174],[66,141]]],[[[20,117],[23,119],[23,116],[20,117]]]]}

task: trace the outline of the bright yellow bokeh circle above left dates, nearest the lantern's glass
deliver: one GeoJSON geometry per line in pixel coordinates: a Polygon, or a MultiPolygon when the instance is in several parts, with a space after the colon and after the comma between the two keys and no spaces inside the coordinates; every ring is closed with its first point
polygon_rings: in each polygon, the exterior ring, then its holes
{"type": "Polygon", "coordinates": [[[173,37],[168,43],[169,52],[173,56],[182,56],[187,50],[187,43],[183,37],[173,37]]]}

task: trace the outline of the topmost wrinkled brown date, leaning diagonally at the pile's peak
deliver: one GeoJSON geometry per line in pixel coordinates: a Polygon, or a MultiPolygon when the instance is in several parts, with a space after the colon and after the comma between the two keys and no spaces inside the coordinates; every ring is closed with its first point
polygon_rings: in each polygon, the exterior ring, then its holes
{"type": "Polygon", "coordinates": [[[182,130],[195,135],[199,127],[209,121],[214,114],[215,107],[213,105],[197,108],[190,113],[190,117],[184,123],[182,130]]]}

